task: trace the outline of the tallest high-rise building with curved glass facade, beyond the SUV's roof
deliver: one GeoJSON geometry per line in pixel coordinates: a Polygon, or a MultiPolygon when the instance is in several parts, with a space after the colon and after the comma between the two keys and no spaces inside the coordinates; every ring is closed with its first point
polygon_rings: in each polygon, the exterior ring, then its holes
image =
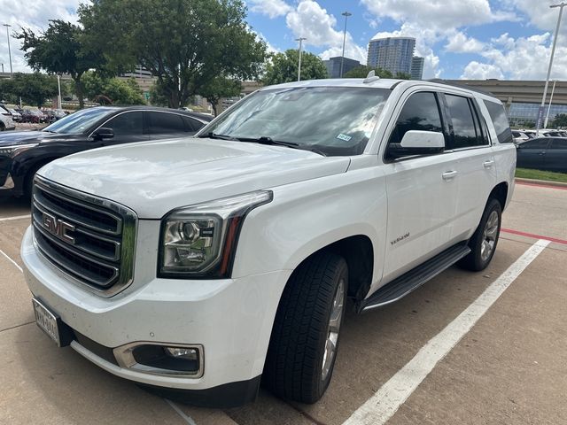
{"type": "Polygon", "coordinates": [[[396,73],[410,73],[416,39],[411,37],[387,37],[370,40],[368,65],[396,73]]]}

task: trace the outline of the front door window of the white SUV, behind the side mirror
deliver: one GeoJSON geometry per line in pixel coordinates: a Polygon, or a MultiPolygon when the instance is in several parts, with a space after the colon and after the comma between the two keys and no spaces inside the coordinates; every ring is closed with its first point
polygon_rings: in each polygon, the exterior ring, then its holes
{"type": "Polygon", "coordinates": [[[409,97],[396,121],[389,143],[401,143],[409,130],[443,132],[439,106],[433,93],[420,92],[409,97]]]}

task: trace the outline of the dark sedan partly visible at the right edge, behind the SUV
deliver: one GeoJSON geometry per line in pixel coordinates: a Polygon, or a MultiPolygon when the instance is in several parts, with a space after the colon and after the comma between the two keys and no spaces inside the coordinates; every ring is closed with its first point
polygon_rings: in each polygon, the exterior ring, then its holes
{"type": "Polygon", "coordinates": [[[567,137],[539,137],[518,143],[517,166],[567,173],[567,137]]]}

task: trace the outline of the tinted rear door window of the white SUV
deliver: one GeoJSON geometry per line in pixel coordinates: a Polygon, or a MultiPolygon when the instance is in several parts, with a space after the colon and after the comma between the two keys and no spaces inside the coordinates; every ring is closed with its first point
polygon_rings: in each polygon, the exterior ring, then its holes
{"type": "Polygon", "coordinates": [[[485,144],[479,131],[478,121],[475,123],[473,119],[469,99],[453,95],[445,95],[445,97],[447,98],[454,132],[453,143],[450,143],[449,149],[485,144]]]}

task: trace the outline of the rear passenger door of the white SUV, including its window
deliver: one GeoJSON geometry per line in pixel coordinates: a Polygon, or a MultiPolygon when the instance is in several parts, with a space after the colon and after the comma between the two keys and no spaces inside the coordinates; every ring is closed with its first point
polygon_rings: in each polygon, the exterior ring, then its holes
{"type": "Polygon", "coordinates": [[[488,195],[496,185],[496,166],[485,120],[474,97],[446,93],[444,104],[451,133],[447,149],[453,151],[458,171],[451,236],[458,242],[477,228],[488,195]]]}

